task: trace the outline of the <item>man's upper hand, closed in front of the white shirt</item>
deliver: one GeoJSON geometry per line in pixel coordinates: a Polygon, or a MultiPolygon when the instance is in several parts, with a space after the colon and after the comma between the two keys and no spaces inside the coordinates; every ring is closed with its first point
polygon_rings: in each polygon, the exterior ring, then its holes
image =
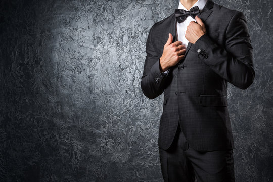
{"type": "Polygon", "coordinates": [[[191,43],[195,43],[202,35],[207,33],[206,27],[202,20],[196,16],[195,21],[191,21],[190,24],[187,26],[185,37],[191,43]]]}

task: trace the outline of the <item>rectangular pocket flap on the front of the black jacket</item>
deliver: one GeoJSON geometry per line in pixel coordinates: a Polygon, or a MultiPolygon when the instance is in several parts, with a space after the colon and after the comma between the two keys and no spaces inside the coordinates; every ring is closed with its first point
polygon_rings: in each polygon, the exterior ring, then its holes
{"type": "Polygon", "coordinates": [[[200,95],[199,104],[202,106],[228,106],[228,100],[223,95],[200,95]]]}

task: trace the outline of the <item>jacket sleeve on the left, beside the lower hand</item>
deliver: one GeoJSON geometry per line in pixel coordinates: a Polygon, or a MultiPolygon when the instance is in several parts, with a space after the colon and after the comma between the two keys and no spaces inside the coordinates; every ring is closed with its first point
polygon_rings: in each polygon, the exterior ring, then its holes
{"type": "Polygon", "coordinates": [[[167,74],[163,77],[160,72],[159,56],[152,42],[153,28],[154,26],[151,28],[146,42],[146,59],[141,77],[142,92],[149,99],[154,99],[163,93],[167,77],[167,74]]]}

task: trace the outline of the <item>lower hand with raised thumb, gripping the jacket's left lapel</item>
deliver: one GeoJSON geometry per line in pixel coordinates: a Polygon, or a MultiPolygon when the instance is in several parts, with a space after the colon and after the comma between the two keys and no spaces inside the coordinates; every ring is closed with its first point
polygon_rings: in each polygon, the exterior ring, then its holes
{"type": "Polygon", "coordinates": [[[176,65],[185,56],[186,47],[181,41],[172,42],[172,35],[169,33],[169,39],[164,45],[163,54],[160,57],[160,71],[164,72],[170,67],[176,65]]]}

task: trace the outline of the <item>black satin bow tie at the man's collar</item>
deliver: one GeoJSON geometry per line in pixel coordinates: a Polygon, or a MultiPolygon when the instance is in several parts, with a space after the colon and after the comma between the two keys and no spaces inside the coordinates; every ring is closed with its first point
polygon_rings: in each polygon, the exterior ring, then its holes
{"type": "Polygon", "coordinates": [[[175,18],[178,21],[178,23],[182,23],[188,16],[193,17],[195,19],[195,16],[200,15],[200,10],[198,6],[195,6],[191,8],[189,11],[183,10],[183,9],[175,9],[175,18]]]}

